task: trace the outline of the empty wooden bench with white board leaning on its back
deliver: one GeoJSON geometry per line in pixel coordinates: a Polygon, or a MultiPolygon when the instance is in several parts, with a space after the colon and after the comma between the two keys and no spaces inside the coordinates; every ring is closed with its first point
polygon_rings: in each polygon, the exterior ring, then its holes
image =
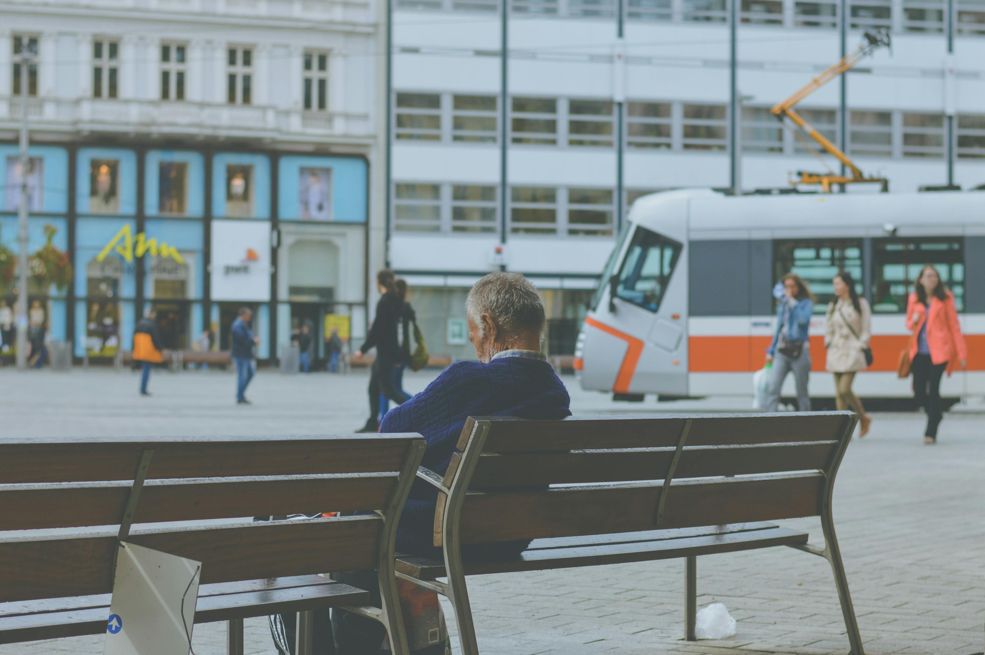
{"type": "Polygon", "coordinates": [[[291,612],[297,653],[310,655],[312,611],[331,607],[383,622],[407,653],[393,549],[425,445],[417,434],[0,440],[0,644],[105,632],[126,541],[202,562],[195,622],[228,621],[230,655],[243,652],[244,618],[291,612]],[[251,519],[319,510],[365,515],[251,519]],[[369,569],[382,610],[317,575],[369,569]]]}

